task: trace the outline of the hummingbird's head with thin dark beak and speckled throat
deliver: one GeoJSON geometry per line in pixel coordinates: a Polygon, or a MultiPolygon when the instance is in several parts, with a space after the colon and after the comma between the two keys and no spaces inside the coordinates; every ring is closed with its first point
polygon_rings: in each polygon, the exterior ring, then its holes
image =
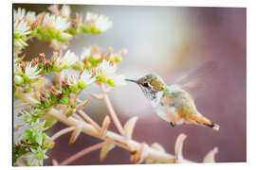
{"type": "Polygon", "coordinates": [[[156,93],[164,91],[166,86],[162,78],[154,74],[142,76],[137,80],[125,80],[137,83],[146,97],[150,98],[151,100],[155,99],[156,93]]]}

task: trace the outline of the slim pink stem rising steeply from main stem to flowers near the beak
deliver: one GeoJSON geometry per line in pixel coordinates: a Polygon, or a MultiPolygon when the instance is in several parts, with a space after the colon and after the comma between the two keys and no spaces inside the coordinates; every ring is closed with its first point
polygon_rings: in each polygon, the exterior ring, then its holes
{"type": "Polygon", "coordinates": [[[104,101],[106,103],[106,107],[107,107],[107,110],[109,112],[109,115],[111,117],[111,119],[113,120],[114,122],[114,125],[118,128],[119,130],[119,133],[122,135],[122,136],[125,136],[124,134],[124,130],[123,130],[123,127],[121,126],[120,122],[119,122],[119,118],[115,112],[115,110],[113,109],[113,106],[105,92],[105,87],[103,85],[103,83],[100,82],[100,87],[101,87],[101,93],[103,95],[103,98],[104,98],[104,101]]]}

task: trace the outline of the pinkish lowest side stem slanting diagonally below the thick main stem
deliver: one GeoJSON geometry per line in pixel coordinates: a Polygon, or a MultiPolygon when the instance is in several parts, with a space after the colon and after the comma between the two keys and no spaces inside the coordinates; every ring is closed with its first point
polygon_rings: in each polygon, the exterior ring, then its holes
{"type": "Polygon", "coordinates": [[[104,146],[106,144],[106,142],[102,142],[100,144],[94,144],[94,145],[91,145],[89,147],[86,147],[84,149],[82,149],[82,151],[72,155],[71,157],[69,157],[68,159],[62,161],[60,163],[60,165],[66,165],[66,164],[69,164],[70,162],[72,161],[76,161],[78,160],[79,158],[81,158],[82,156],[94,151],[94,150],[97,150],[97,149],[100,149],[102,146],[104,146]]]}

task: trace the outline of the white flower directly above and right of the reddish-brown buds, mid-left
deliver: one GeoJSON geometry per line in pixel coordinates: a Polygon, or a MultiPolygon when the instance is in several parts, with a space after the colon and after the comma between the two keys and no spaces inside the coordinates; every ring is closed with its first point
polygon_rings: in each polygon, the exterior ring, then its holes
{"type": "Polygon", "coordinates": [[[69,50],[64,54],[64,57],[59,57],[55,60],[55,66],[59,69],[68,68],[78,60],[78,57],[75,53],[70,52],[69,50]]]}

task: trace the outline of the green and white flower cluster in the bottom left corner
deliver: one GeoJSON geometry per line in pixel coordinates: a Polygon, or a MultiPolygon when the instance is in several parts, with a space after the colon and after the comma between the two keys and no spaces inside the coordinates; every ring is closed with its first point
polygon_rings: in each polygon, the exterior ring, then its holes
{"type": "Polygon", "coordinates": [[[13,156],[16,161],[21,155],[26,154],[27,164],[43,165],[44,159],[47,159],[46,151],[53,147],[53,142],[44,132],[48,125],[46,120],[39,120],[43,113],[31,110],[30,112],[21,112],[23,126],[30,127],[26,129],[19,140],[18,144],[14,144],[13,156]]]}

